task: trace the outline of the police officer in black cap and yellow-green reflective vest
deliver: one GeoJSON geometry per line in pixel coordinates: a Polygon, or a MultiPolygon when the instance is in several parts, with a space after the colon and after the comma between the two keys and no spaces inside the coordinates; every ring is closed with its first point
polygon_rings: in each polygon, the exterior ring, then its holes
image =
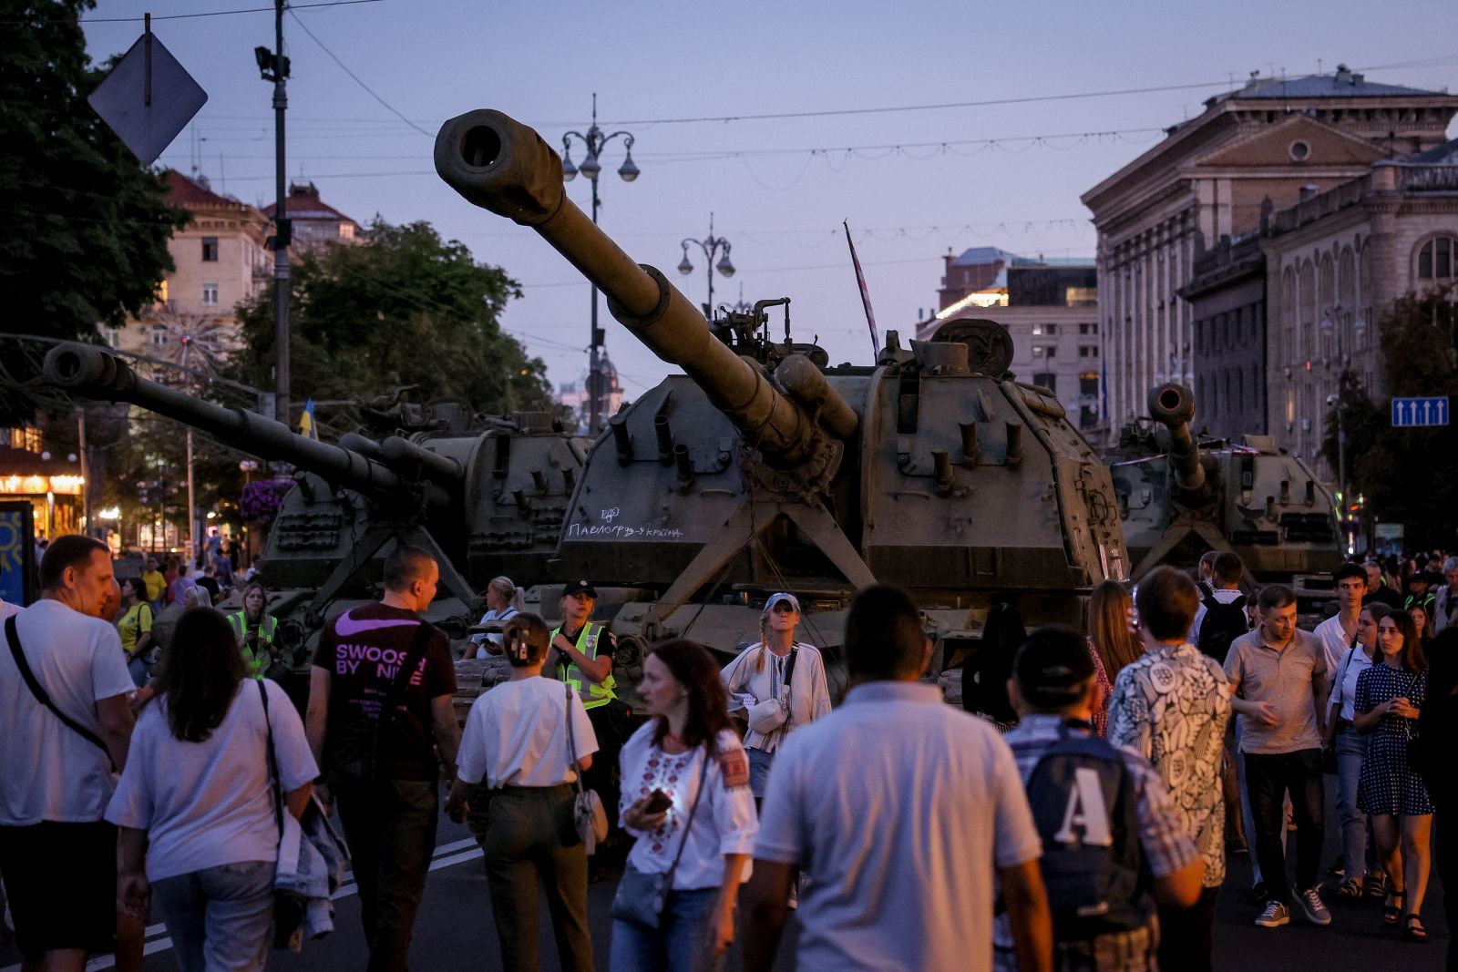
{"type": "MultiPolygon", "coordinates": [[[[548,660],[551,672],[577,692],[582,707],[598,734],[598,755],[583,772],[583,784],[598,791],[607,807],[618,806],[618,788],[612,774],[618,765],[618,750],[627,737],[628,707],[614,692],[612,653],[617,640],[607,625],[589,621],[598,590],[588,580],[574,580],[561,595],[561,627],[551,632],[555,648],[548,660]]],[[[608,812],[608,820],[617,818],[608,812]]]]}

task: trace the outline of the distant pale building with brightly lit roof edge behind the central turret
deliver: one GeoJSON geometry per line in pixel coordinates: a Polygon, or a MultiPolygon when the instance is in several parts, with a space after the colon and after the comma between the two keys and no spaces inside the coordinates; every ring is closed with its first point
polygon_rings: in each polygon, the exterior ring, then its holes
{"type": "Polygon", "coordinates": [[[1092,428],[1098,423],[1101,354],[1098,271],[1092,261],[1024,259],[990,246],[967,251],[978,252],[999,264],[997,273],[974,274],[977,289],[919,322],[916,337],[929,341],[952,321],[996,321],[1012,335],[1012,372],[1018,380],[1047,388],[1070,421],[1092,428]]]}

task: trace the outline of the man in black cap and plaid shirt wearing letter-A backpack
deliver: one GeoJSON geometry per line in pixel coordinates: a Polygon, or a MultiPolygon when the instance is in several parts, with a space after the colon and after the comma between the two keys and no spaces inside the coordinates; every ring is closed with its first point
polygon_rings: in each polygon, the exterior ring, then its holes
{"type": "MultiPolygon", "coordinates": [[[[1204,876],[1163,780],[1143,756],[1094,734],[1104,689],[1076,631],[1034,631],[1007,694],[1021,721],[1005,739],[1042,838],[1054,968],[1158,969],[1155,905],[1194,905],[1204,876]]],[[[1012,968],[1009,950],[997,956],[1012,968]]]]}

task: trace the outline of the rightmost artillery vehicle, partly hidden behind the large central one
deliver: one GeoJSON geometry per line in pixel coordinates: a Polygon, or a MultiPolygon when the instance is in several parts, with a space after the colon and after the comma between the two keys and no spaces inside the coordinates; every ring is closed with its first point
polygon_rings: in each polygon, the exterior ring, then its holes
{"type": "Polygon", "coordinates": [[[1324,576],[1341,548],[1336,503],[1317,474],[1268,436],[1196,443],[1196,401],[1182,385],[1150,389],[1147,404],[1152,421],[1126,428],[1110,456],[1131,577],[1232,551],[1251,584],[1293,584],[1303,611],[1330,596],[1324,576]]]}

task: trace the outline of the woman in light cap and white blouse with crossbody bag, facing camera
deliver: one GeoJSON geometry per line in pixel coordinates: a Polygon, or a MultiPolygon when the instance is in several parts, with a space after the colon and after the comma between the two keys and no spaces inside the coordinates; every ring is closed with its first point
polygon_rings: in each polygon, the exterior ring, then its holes
{"type": "Polygon", "coordinates": [[[774,750],[790,730],[830,714],[830,685],[819,648],[795,640],[800,602],[795,595],[770,595],[760,615],[760,643],[751,644],[720,672],[730,695],[746,694],[749,732],[749,791],[764,800],[774,750]]]}

